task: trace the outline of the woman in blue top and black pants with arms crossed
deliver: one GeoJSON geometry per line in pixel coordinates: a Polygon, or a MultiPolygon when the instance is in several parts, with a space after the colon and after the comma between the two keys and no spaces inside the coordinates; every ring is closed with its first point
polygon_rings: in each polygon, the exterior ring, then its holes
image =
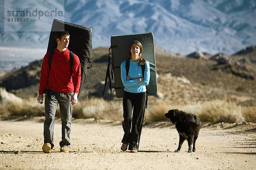
{"type": "Polygon", "coordinates": [[[140,134],[145,113],[146,85],[150,79],[149,63],[142,56],[142,44],[135,40],[130,45],[130,66],[126,74],[124,61],[121,64],[121,79],[125,86],[123,96],[122,127],[125,132],[122,139],[121,150],[131,150],[137,153],[139,150],[140,134]],[[144,77],[142,65],[145,65],[144,77]],[[132,113],[133,110],[133,113],[132,113]],[[129,147],[128,147],[129,146],[129,147]]]}

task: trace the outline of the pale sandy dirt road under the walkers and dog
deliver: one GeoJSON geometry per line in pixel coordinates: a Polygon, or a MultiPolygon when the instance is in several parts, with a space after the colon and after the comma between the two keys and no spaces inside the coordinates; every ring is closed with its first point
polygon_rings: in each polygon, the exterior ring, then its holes
{"type": "Polygon", "coordinates": [[[43,117],[0,122],[0,169],[44,170],[253,170],[256,124],[204,125],[195,153],[169,122],[144,125],[138,153],[120,150],[120,122],[74,119],[70,153],[60,153],[61,124],[55,123],[55,150],[43,153],[43,117]]]}

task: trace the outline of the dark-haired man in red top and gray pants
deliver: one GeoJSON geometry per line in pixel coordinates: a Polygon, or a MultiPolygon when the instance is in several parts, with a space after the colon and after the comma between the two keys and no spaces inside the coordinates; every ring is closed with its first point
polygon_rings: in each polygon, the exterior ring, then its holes
{"type": "Polygon", "coordinates": [[[38,102],[43,103],[45,91],[45,121],[44,121],[44,145],[42,150],[50,153],[54,147],[53,133],[55,123],[55,112],[60,106],[61,111],[61,152],[69,153],[70,130],[72,119],[72,106],[77,103],[81,82],[81,68],[79,58],[76,54],[72,72],[70,69],[70,51],[67,49],[70,34],[66,30],[57,31],[55,34],[57,48],[55,48],[51,67],[49,67],[49,53],[44,56],[39,84],[38,102]]]}

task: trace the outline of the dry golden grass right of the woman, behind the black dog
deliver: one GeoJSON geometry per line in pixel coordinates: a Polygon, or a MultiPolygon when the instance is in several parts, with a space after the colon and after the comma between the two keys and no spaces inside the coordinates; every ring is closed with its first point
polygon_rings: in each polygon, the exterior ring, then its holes
{"type": "Polygon", "coordinates": [[[170,109],[179,109],[199,116],[201,122],[256,122],[256,107],[246,107],[231,101],[212,100],[189,105],[175,105],[157,102],[147,111],[145,121],[168,121],[164,113],[170,109]]]}

